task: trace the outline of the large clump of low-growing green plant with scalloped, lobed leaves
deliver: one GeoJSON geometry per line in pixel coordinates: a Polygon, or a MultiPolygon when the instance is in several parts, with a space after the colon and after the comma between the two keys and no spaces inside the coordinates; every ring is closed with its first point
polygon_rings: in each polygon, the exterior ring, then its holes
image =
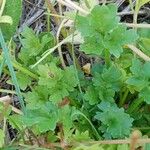
{"type": "MultiPolygon", "coordinates": [[[[62,69],[60,58],[52,54],[31,69],[55,46],[55,37],[46,32],[36,35],[26,27],[20,35],[22,48],[12,59],[26,111],[23,115],[8,113],[5,118],[27,143],[41,146],[40,139],[44,139],[43,145],[52,143],[52,148],[55,142],[65,147],[85,140],[125,139],[134,128],[146,134],[142,129],[149,130],[150,125],[150,63],[132,54],[127,45],[149,54],[150,34],[120,24],[113,4],[95,6],[87,16],[76,14],[74,21],[84,40],[80,51],[97,58],[88,74],[74,65],[62,69]]],[[[72,149],[129,147],[80,144],[72,149]]]]}

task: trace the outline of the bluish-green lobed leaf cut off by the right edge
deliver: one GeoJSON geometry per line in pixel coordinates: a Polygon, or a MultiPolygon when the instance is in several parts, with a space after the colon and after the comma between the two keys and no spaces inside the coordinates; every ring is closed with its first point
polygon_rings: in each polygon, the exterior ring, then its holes
{"type": "Polygon", "coordinates": [[[133,59],[130,68],[132,75],[127,79],[131,91],[138,91],[139,97],[143,98],[147,104],[150,104],[150,62],[144,64],[138,59],[133,59]]]}

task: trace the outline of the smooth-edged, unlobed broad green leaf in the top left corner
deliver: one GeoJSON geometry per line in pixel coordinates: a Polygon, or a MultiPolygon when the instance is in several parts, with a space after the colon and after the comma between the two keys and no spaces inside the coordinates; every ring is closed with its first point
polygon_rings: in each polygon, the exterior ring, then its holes
{"type": "Polygon", "coordinates": [[[6,0],[3,15],[10,16],[13,24],[0,24],[4,38],[10,40],[16,31],[22,13],[22,0],[6,0]]]}

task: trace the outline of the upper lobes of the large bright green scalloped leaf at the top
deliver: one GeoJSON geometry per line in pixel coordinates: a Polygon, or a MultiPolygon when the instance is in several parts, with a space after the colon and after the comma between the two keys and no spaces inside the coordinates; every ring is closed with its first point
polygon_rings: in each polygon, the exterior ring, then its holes
{"type": "Polygon", "coordinates": [[[87,17],[77,17],[77,29],[83,36],[92,36],[96,32],[105,34],[119,23],[116,5],[95,6],[87,17]]]}

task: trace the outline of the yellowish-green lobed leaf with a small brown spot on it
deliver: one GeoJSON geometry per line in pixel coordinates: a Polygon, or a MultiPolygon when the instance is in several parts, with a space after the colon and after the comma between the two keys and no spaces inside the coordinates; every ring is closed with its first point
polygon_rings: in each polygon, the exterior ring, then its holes
{"type": "Polygon", "coordinates": [[[78,83],[73,66],[61,70],[54,63],[39,65],[38,73],[40,75],[38,84],[49,89],[49,99],[53,103],[58,103],[68,96],[78,83]]]}

